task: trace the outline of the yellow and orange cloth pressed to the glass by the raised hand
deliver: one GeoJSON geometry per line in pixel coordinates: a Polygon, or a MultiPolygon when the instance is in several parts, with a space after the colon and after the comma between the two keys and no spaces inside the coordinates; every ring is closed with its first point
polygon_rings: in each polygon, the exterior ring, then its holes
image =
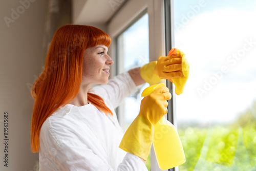
{"type": "MultiPolygon", "coordinates": [[[[189,63],[187,62],[187,59],[185,58],[185,54],[181,52],[179,49],[171,49],[168,53],[168,56],[170,56],[171,59],[178,58],[179,61],[181,61],[181,71],[175,72],[177,73],[177,77],[174,78],[168,78],[170,81],[172,81],[175,84],[175,93],[177,95],[180,95],[183,93],[186,81],[188,79],[189,75],[189,63]],[[182,72],[182,75],[180,77],[180,72],[182,72]]],[[[178,60],[177,60],[178,61],[178,60]]],[[[180,65],[177,66],[177,69],[180,69],[180,65]]]]}

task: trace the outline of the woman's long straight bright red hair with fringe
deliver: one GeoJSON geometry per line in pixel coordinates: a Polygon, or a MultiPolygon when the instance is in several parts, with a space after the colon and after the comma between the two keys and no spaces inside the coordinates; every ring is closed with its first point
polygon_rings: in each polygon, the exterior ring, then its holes
{"type": "MultiPolygon", "coordinates": [[[[92,26],[66,25],[54,34],[45,69],[31,89],[35,98],[31,121],[32,152],[39,152],[39,133],[45,120],[78,94],[82,79],[84,50],[96,45],[109,47],[108,34],[92,26]]],[[[105,114],[112,114],[103,99],[88,93],[88,101],[105,114]]]]}

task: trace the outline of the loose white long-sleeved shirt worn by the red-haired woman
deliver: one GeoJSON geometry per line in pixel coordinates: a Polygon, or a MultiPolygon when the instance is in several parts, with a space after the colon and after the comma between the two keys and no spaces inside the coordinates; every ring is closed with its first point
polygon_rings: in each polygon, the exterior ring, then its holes
{"type": "Polygon", "coordinates": [[[147,170],[142,160],[118,146],[123,132],[114,109],[124,97],[137,91],[129,73],[93,88],[113,112],[106,115],[93,104],[67,104],[54,112],[41,127],[41,170],[147,170]]]}

